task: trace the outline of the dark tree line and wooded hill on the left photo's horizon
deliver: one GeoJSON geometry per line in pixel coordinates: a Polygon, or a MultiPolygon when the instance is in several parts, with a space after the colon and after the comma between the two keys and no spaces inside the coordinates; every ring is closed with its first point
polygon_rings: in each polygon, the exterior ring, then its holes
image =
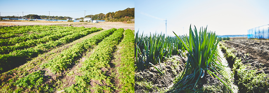
{"type": "MultiPolygon", "coordinates": [[[[56,20],[66,20],[66,19],[72,19],[72,17],[63,17],[63,16],[46,16],[46,15],[25,15],[25,18],[31,18],[31,19],[56,19],[56,20]]],[[[135,8],[127,8],[125,10],[119,10],[117,12],[108,12],[107,14],[96,14],[96,15],[87,15],[85,17],[91,17],[92,20],[106,20],[108,22],[123,22],[128,21],[130,19],[135,19],[135,8]],[[99,17],[99,18],[98,18],[99,17]]],[[[17,16],[4,16],[1,18],[18,18],[17,16]]],[[[23,17],[19,17],[23,18],[23,17]]],[[[84,19],[84,17],[77,18],[84,19]]]]}

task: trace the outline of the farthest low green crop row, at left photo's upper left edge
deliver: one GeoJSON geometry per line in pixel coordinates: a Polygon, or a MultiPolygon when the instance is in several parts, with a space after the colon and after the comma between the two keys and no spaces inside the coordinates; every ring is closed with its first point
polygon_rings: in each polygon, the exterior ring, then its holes
{"type": "MultiPolygon", "coordinates": [[[[26,35],[38,31],[48,31],[60,26],[15,26],[15,27],[0,27],[0,39],[8,39],[11,37],[17,37],[26,35]]],[[[64,28],[64,27],[60,27],[64,28]]]]}

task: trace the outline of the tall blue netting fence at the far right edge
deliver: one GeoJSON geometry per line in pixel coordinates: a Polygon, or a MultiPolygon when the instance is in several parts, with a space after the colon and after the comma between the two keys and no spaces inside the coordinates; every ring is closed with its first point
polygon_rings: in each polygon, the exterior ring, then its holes
{"type": "Polygon", "coordinates": [[[269,24],[249,29],[248,39],[249,38],[269,39],[269,24]]]}

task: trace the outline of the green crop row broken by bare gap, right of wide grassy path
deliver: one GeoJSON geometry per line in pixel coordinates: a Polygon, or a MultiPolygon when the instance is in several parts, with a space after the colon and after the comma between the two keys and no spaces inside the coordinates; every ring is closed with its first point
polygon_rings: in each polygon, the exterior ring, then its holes
{"type": "MultiPolygon", "coordinates": [[[[102,30],[102,28],[92,28],[92,30],[96,30],[94,32],[102,30]]],[[[115,30],[115,28],[102,31],[101,33],[94,35],[91,38],[85,39],[80,43],[76,43],[72,47],[70,47],[67,50],[64,50],[61,52],[58,56],[56,56],[54,59],[51,61],[58,61],[56,64],[50,64],[53,65],[51,67],[55,67],[56,65],[65,65],[64,67],[70,66],[70,64],[66,63],[68,60],[70,62],[75,62],[76,57],[82,55],[84,51],[87,49],[91,49],[94,46],[96,46],[99,42],[101,42],[105,37],[108,37],[111,35],[115,30]],[[74,52],[72,52],[74,51],[74,52]],[[69,54],[68,54],[69,53],[69,54]],[[70,56],[71,55],[71,56],[70,56]],[[62,57],[62,58],[57,58],[57,57],[62,57]],[[69,58],[68,58],[69,57],[69,58]],[[61,62],[60,62],[61,61],[61,62]]],[[[51,62],[49,61],[49,62],[51,62]]],[[[46,65],[48,65],[46,64],[46,65]]],[[[57,67],[57,66],[56,66],[57,67]]],[[[61,66],[58,66],[58,68],[61,66]]],[[[65,68],[61,69],[65,69],[65,68]]],[[[58,69],[58,71],[61,71],[58,69]]],[[[1,91],[3,92],[54,92],[55,86],[51,86],[50,84],[45,83],[45,77],[44,74],[46,72],[44,70],[38,70],[33,73],[25,72],[21,76],[16,75],[16,78],[13,78],[11,81],[6,82],[9,83],[10,85],[4,85],[5,83],[2,84],[3,89],[1,91]]]]}

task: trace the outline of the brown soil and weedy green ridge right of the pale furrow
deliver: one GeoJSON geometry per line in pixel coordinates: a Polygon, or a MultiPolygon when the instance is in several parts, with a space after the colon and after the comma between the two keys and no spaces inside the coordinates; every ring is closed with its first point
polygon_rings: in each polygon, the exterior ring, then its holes
{"type": "Polygon", "coordinates": [[[221,46],[239,92],[269,92],[268,40],[234,39],[221,46]]]}

